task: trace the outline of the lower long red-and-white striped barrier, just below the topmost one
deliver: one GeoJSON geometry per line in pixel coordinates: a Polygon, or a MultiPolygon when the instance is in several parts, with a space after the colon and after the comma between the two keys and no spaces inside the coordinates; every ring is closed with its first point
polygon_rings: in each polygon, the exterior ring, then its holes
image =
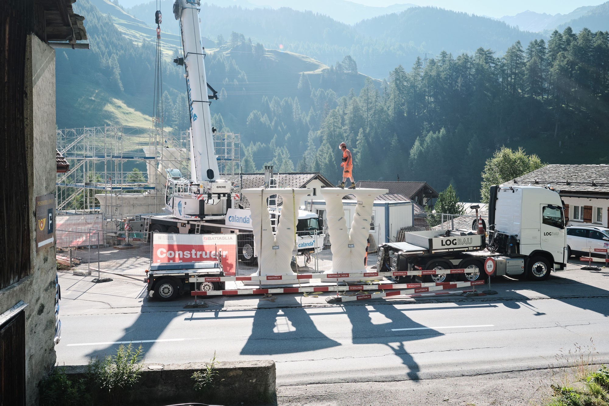
{"type": "MultiPolygon", "coordinates": [[[[477,281],[481,285],[484,281],[477,281]]],[[[462,283],[462,282],[457,282],[462,283]]],[[[471,283],[471,282],[463,282],[471,283]]],[[[235,296],[239,294],[267,294],[267,293],[311,293],[311,292],[336,292],[336,291],[364,291],[364,290],[390,290],[390,289],[426,289],[454,287],[454,282],[424,282],[424,283],[379,283],[375,285],[342,285],[342,286],[322,286],[306,288],[266,288],[266,289],[233,289],[233,290],[195,290],[191,291],[191,296],[235,296]]],[[[470,286],[470,285],[463,285],[470,286]]],[[[448,288],[447,288],[448,289],[448,288]]],[[[435,290],[435,289],[432,289],[435,290]]],[[[375,296],[376,297],[376,296],[375,296]]]]}

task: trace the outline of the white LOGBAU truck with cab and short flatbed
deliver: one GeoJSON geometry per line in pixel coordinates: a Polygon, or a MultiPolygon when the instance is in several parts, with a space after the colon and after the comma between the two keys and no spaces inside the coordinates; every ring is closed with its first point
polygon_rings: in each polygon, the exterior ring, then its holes
{"type": "Polygon", "coordinates": [[[490,188],[488,241],[473,230],[428,230],[405,234],[404,242],[379,246],[379,271],[473,269],[472,272],[424,276],[425,282],[452,277],[486,277],[487,258],[495,260],[493,276],[546,280],[552,269],[564,269],[567,242],[563,202],[552,188],[501,185],[490,188]]]}

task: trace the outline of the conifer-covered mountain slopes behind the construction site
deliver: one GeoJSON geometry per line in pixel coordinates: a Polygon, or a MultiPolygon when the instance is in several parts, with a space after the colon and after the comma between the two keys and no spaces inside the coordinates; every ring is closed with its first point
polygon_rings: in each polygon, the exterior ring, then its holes
{"type": "MultiPolygon", "coordinates": [[[[153,46],[128,38],[88,0],[77,5],[91,51],[57,52],[58,126],[121,124],[98,113],[86,91],[150,115],[153,46]],[[70,105],[68,88],[83,93],[79,104],[70,105]]],[[[349,55],[326,66],[238,32],[203,40],[208,82],[219,91],[213,124],[241,134],[244,172],[272,164],[338,181],[345,141],[356,180],[424,180],[438,191],[452,183],[460,199],[479,201],[485,160],[502,145],[548,163],[609,158],[609,32],[567,27],[507,49],[420,55],[382,80],[360,73],[349,55]]],[[[188,107],[181,71],[169,61],[163,105],[167,126],[179,131],[189,126],[188,107]]]]}

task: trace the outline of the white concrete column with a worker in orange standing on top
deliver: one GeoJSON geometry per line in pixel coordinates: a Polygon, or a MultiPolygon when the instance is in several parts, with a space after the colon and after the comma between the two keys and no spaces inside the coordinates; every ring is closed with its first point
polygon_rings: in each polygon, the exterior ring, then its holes
{"type": "MultiPolygon", "coordinates": [[[[387,193],[387,189],[354,189],[323,188],[322,196],[326,201],[326,223],[330,235],[332,250],[332,270],[336,272],[365,272],[364,256],[366,252],[372,207],[376,196],[387,193]],[[345,208],[342,198],[353,194],[357,200],[353,222],[347,226],[345,208]],[[351,228],[351,230],[348,230],[351,228]]],[[[330,272],[326,272],[330,273],[330,272]]],[[[362,278],[345,278],[344,280],[362,278]]],[[[341,279],[343,280],[343,279],[341,279]]]]}

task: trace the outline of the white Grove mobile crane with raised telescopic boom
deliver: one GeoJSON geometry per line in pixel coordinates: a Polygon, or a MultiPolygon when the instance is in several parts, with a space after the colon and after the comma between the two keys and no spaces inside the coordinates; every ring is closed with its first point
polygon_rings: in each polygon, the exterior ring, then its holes
{"type": "MultiPolygon", "coordinates": [[[[183,53],[174,59],[184,66],[188,107],[191,120],[191,173],[187,178],[178,169],[167,169],[165,192],[166,215],[141,215],[147,230],[163,233],[237,233],[238,259],[248,265],[256,263],[250,211],[239,208],[235,185],[219,179],[217,155],[213,145],[209,105],[217,92],[206,82],[205,52],[199,19],[200,0],[175,0],[173,12],[180,21],[183,53]],[[213,91],[208,94],[208,88],[213,91]]],[[[160,14],[160,12],[157,12],[160,14]]],[[[272,171],[272,169],[271,169],[272,171]]],[[[311,212],[298,213],[298,243],[295,255],[308,256],[313,248],[323,248],[320,219],[311,212]]],[[[269,213],[276,216],[280,212],[269,213]]]]}

